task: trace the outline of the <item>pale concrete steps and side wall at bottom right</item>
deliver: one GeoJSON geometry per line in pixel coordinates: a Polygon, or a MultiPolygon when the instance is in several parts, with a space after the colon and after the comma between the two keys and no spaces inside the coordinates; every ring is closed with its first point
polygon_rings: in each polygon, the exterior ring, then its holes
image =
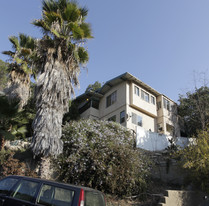
{"type": "Polygon", "coordinates": [[[209,200],[205,194],[196,191],[166,190],[158,206],[205,206],[209,200]]]}

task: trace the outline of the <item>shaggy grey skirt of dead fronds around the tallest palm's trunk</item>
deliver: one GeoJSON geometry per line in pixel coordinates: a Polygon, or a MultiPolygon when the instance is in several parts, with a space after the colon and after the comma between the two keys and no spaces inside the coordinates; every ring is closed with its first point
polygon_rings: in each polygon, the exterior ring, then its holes
{"type": "Polygon", "coordinates": [[[35,156],[57,156],[63,149],[62,119],[69,109],[71,85],[62,64],[53,57],[39,76],[36,93],[32,151],[35,156]]]}

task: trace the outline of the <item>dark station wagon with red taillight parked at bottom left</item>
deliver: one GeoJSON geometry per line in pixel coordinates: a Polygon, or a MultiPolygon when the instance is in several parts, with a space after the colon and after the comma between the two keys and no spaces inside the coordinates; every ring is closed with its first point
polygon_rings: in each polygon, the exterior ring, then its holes
{"type": "Polygon", "coordinates": [[[0,206],[106,206],[103,193],[87,187],[23,176],[0,180],[0,206]]]}

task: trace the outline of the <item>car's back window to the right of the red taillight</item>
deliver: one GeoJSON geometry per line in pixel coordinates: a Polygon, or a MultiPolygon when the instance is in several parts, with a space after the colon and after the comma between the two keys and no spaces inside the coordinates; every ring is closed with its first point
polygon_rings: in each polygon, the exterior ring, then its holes
{"type": "Polygon", "coordinates": [[[103,195],[99,192],[85,191],[85,206],[105,206],[103,195]]]}

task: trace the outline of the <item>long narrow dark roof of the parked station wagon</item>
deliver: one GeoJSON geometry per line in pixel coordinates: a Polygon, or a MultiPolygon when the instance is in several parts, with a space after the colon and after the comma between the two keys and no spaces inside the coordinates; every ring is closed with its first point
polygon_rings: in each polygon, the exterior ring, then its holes
{"type": "MultiPolygon", "coordinates": [[[[101,193],[99,190],[96,190],[96,189],[93,189],[93,188],[90,188],[90,187],[73,185],[73,184],[63,183],[63,182],[60,182],[60,181],[47,180],[47,179],[41,179],[41,178],[35,178],[35,177],[28,177],[28,176],[20,176],[20,175],[9,175],[7,177],[14,177],[14,178],[18,178],[18,179],[27,179],[27,180],[36,180],[36,181],[40,181],[40,182],[47,182],[47,183],[59,184],[59,185],[63,185],[63,186],[74,187],[74,188],[77,188],[77,189],[83,189],[83,190],[86,190],[86,191],[94,191],[94,192],[101,193]]],[[[5,177],[5,178],[7,178],[7,177],[5,177]]]]}

